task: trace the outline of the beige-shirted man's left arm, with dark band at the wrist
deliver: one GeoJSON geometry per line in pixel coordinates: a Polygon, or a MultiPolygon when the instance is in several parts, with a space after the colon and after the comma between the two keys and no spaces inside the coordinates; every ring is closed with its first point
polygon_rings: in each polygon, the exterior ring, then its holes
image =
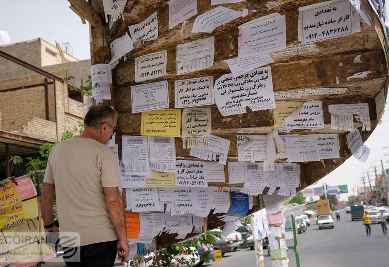
{"type": "MultiPolygon", "coordinates": [[[[49,225],[53,223],[54,195],[55,195],[55,184],[48,184],[43,182],[42,194],[41,194],[41,211],[42,211],[42,218],[43,218],[44,225],[49,225]]],[[[56,232],[58,229],[53,226],[45,230],[56,232]]]]}

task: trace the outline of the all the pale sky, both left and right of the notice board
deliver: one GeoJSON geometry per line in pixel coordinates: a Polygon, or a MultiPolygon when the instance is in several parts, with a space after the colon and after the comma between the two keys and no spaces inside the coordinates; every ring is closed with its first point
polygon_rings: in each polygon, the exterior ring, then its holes
{"type": "MultiPolygon", "coordinates": [[[[89,26],[82,24],[81,19],[71,11],[67,0],[0,0],[0,31],[7,31],[11,43],[41,37],[55,44],[55,41],[70,42],[73,56],[83,60],[90,58],[89,26]]],[[[340,167],[323,177],[310,187],[347,184],[349,194],[341,194],[340,200],[347,200],[349,195],[357,193],[362,187],[361,177],[367,183],[369,172],[371,185],[374,185],[374,166],[381,172],[380,160],[384,167],[389,167],[389,108],[383,117],[384,122],[378,125],[367,143],[371,148],[369,159],[362,164],[354,157],[346,160],[340,167]],[[384,149],[387,147],[387,149],[384,149]],[[387,156],[384,154],[387,153],[387,156]]]]}

